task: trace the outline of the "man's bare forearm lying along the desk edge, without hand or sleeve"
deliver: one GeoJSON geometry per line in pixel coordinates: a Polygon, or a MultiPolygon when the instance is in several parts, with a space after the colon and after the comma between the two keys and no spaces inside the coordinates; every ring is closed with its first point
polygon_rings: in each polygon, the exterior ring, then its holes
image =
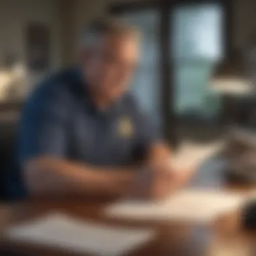
{"type": "Polygon", "coordinates": [[[126,195],[132,175],[128,169],[97,168],[45,156],[24,164],[30,195],[126,195]]]}

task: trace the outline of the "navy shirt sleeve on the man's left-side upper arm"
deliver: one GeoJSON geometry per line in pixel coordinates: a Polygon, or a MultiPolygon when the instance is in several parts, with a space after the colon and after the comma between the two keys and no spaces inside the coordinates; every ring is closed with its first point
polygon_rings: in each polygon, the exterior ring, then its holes
{"type": "Polygon", "coordinates": [[[37,156],[64,157],[67,150],[67,102],[55,88],[34,94],[24,108],[20,125],[18,160],[37,156]]]}

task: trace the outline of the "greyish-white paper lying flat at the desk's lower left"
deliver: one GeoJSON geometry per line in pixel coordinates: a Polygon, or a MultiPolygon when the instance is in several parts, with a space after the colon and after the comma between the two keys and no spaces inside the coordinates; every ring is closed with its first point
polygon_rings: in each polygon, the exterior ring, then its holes
{"type": "Polygon", "coordinates": [[[69,249],[93,255],[122,255],[154,236],[150,229],[112,228],[84,222],[65,214],[50,214],[7,230],[16,241],[69,249]]]}

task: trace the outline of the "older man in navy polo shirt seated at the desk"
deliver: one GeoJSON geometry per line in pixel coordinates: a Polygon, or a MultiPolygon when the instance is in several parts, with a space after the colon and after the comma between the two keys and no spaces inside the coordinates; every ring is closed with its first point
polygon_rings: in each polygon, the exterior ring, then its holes
{"type": "MultiPolygon", "coordinates": [[[[22,115],[9,195],[159,198],[189,176],[128,93],[139,34],[100,20],[86,30],[79,68],[32,93],[22,115]]],[[[157,85],[156,85],[157,86],[157,85]]]]}

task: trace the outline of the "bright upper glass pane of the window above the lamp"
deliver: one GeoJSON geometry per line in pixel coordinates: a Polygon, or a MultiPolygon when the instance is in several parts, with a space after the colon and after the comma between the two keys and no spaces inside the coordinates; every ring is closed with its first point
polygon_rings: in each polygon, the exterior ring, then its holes
{"type": "Polygon", "coordinates": [[[177,59],[220,59],[222,16],[220,5],[193,5],[174,9],[172,56],[177,59]]]}

